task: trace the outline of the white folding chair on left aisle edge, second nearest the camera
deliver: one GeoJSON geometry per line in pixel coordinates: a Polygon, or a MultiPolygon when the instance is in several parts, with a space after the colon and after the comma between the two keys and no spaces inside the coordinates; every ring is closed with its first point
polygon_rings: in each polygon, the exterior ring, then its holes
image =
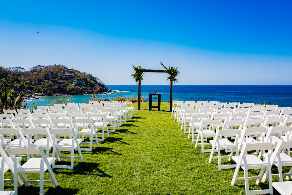
{"type": "Polygon", "coordinates": [[[53,162],[52,168],[60,168],[60,169],[73,169],[74,167],[74,159],[81,159],[83,162],[82,153],[79,147],[81,144],[82,139],[77,139],[76,132],[74,128],[67,129],[67,128],[52,128],[48,129],[49,136],[52,136],[51,139],[53,140],[53,157],[55,157],[55,153],[58,153],[56,157],[58,161],[62,161],[63,158],[70,158],[71,162],[70,165],[55,165],[55,161],[53,162]],[[69,138],[62,139],[59,143],[57,143],[58,136],[69,136],[69,138]],[[74,156],[74,150],[78,151],[79,156],[74,156]],[[62,156],[61,151],[71,151],[71,156],[62,156]]]}

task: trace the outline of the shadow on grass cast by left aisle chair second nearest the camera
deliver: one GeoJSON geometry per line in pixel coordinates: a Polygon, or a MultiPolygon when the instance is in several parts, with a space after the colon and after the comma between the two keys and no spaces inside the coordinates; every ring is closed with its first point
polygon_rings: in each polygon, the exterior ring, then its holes
{"type": "Polygon", "coordinates": [[[109,177],[112,178],[111,175],[108,175],[103,170],[99,169],[98,166],[100,163],[74,163],[74,169],[72,172],[65,171],[64,169],[54,169],[54,172],[62,173],[65,175],[96,175],[98,177],[109,177]]]}

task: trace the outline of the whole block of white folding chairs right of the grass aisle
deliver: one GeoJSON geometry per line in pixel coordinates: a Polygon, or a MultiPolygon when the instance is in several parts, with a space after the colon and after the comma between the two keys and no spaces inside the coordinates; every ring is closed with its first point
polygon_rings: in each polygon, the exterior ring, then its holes
{"type": "MultiPolygon", "coordinates": [[[[283,182],[283,177],[289,180],[292,176],[290,154],[292,118],[288,107],[266,110],[265,112],[251,111],[253,107],[248,107],[246,112],[234,112],[240,107],[233,107],[233,111],[220,113],[214,110],[210,113],[204,111],[210,108],[195,110],[194,107],[183,107],[175,107],[179,108],[182,113],[181,118],[177,115],[179,121],[184,123],[181,130],[184,126],[185,133],[189,133],[188,137],[190,138],[192,135],[193,142],[196,142],[196,148],[201,142],[201,151],[211,152],[209,163],[213,159],[218,159],[219,170],[235,168],[231,185],[234,185],[237,180],[245,180],[246,194],[272,194],[272,186],[281,194],[292,194],[292,181],[283,182]],[[187,126],[188,131],[186,130],[187,126]],[[196,139],[194,136],[197,136],[196,139]],[[210,137],[213,139],[208,141],[210,137]],[[211,145],[211,149],[204,148],[205,145],[211,145]],[[230,154],[222,156],[222,150],[230,154]],[[251,153],[252,151],[254,152],[251,153]],[[266,153],[266,151],[268,152],[266,153]],[[218,156],[214,156],[215,152],[218,153],[218,156]],[[236,164],[222,165],[221,159],[223,158],[228,158],[228,161],[233,160],[236,164]],[[278,167],[278,174],[272,175],[272,165],[278,167]],[[282,173],[284,166],[291,167],[288,173],[282,173]],[[238,177],[240,168],[244,170],[244,177],[238,177]],[[260,169],[261,171],[258,176],[249,177],[248,170],[250,169],[260,169]],[[279,177],[279,182],[272,183],[272,177],[279,177]],[[258,191],[249,189],[249,180],[256,179],[256,183],[259,184],[259,182],[265,182],[267,178],[269,181],[268,189],[258,191]]],[[[220,109],[224,108],[218,110],[220,109]]],[[[174,114],[178,114],[178,110],[174,111],[174,114]]]]}

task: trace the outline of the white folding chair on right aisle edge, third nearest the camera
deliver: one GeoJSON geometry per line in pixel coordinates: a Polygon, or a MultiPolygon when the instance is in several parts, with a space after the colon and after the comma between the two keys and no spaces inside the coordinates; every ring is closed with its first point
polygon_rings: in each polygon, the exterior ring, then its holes
{"type": "Polygon", "coordinates": [[[208,137],[215,137],[216,133],[215,130],[219,130],[220,120],[203,120],[201,122],[200,128],[198,130],[198,137],[196,140],[195,148],[197,148],[199,143],[199,137],[201,137],[201,151],[204,152],[211,152],[211,149],[204,149],[204,145],[211,145],[210,143],[205,143],[208,137]],[[209,126],[209,127],[208,127],[209,126]],[[204,139],[206,137],[206,139],[204,139]]]}

